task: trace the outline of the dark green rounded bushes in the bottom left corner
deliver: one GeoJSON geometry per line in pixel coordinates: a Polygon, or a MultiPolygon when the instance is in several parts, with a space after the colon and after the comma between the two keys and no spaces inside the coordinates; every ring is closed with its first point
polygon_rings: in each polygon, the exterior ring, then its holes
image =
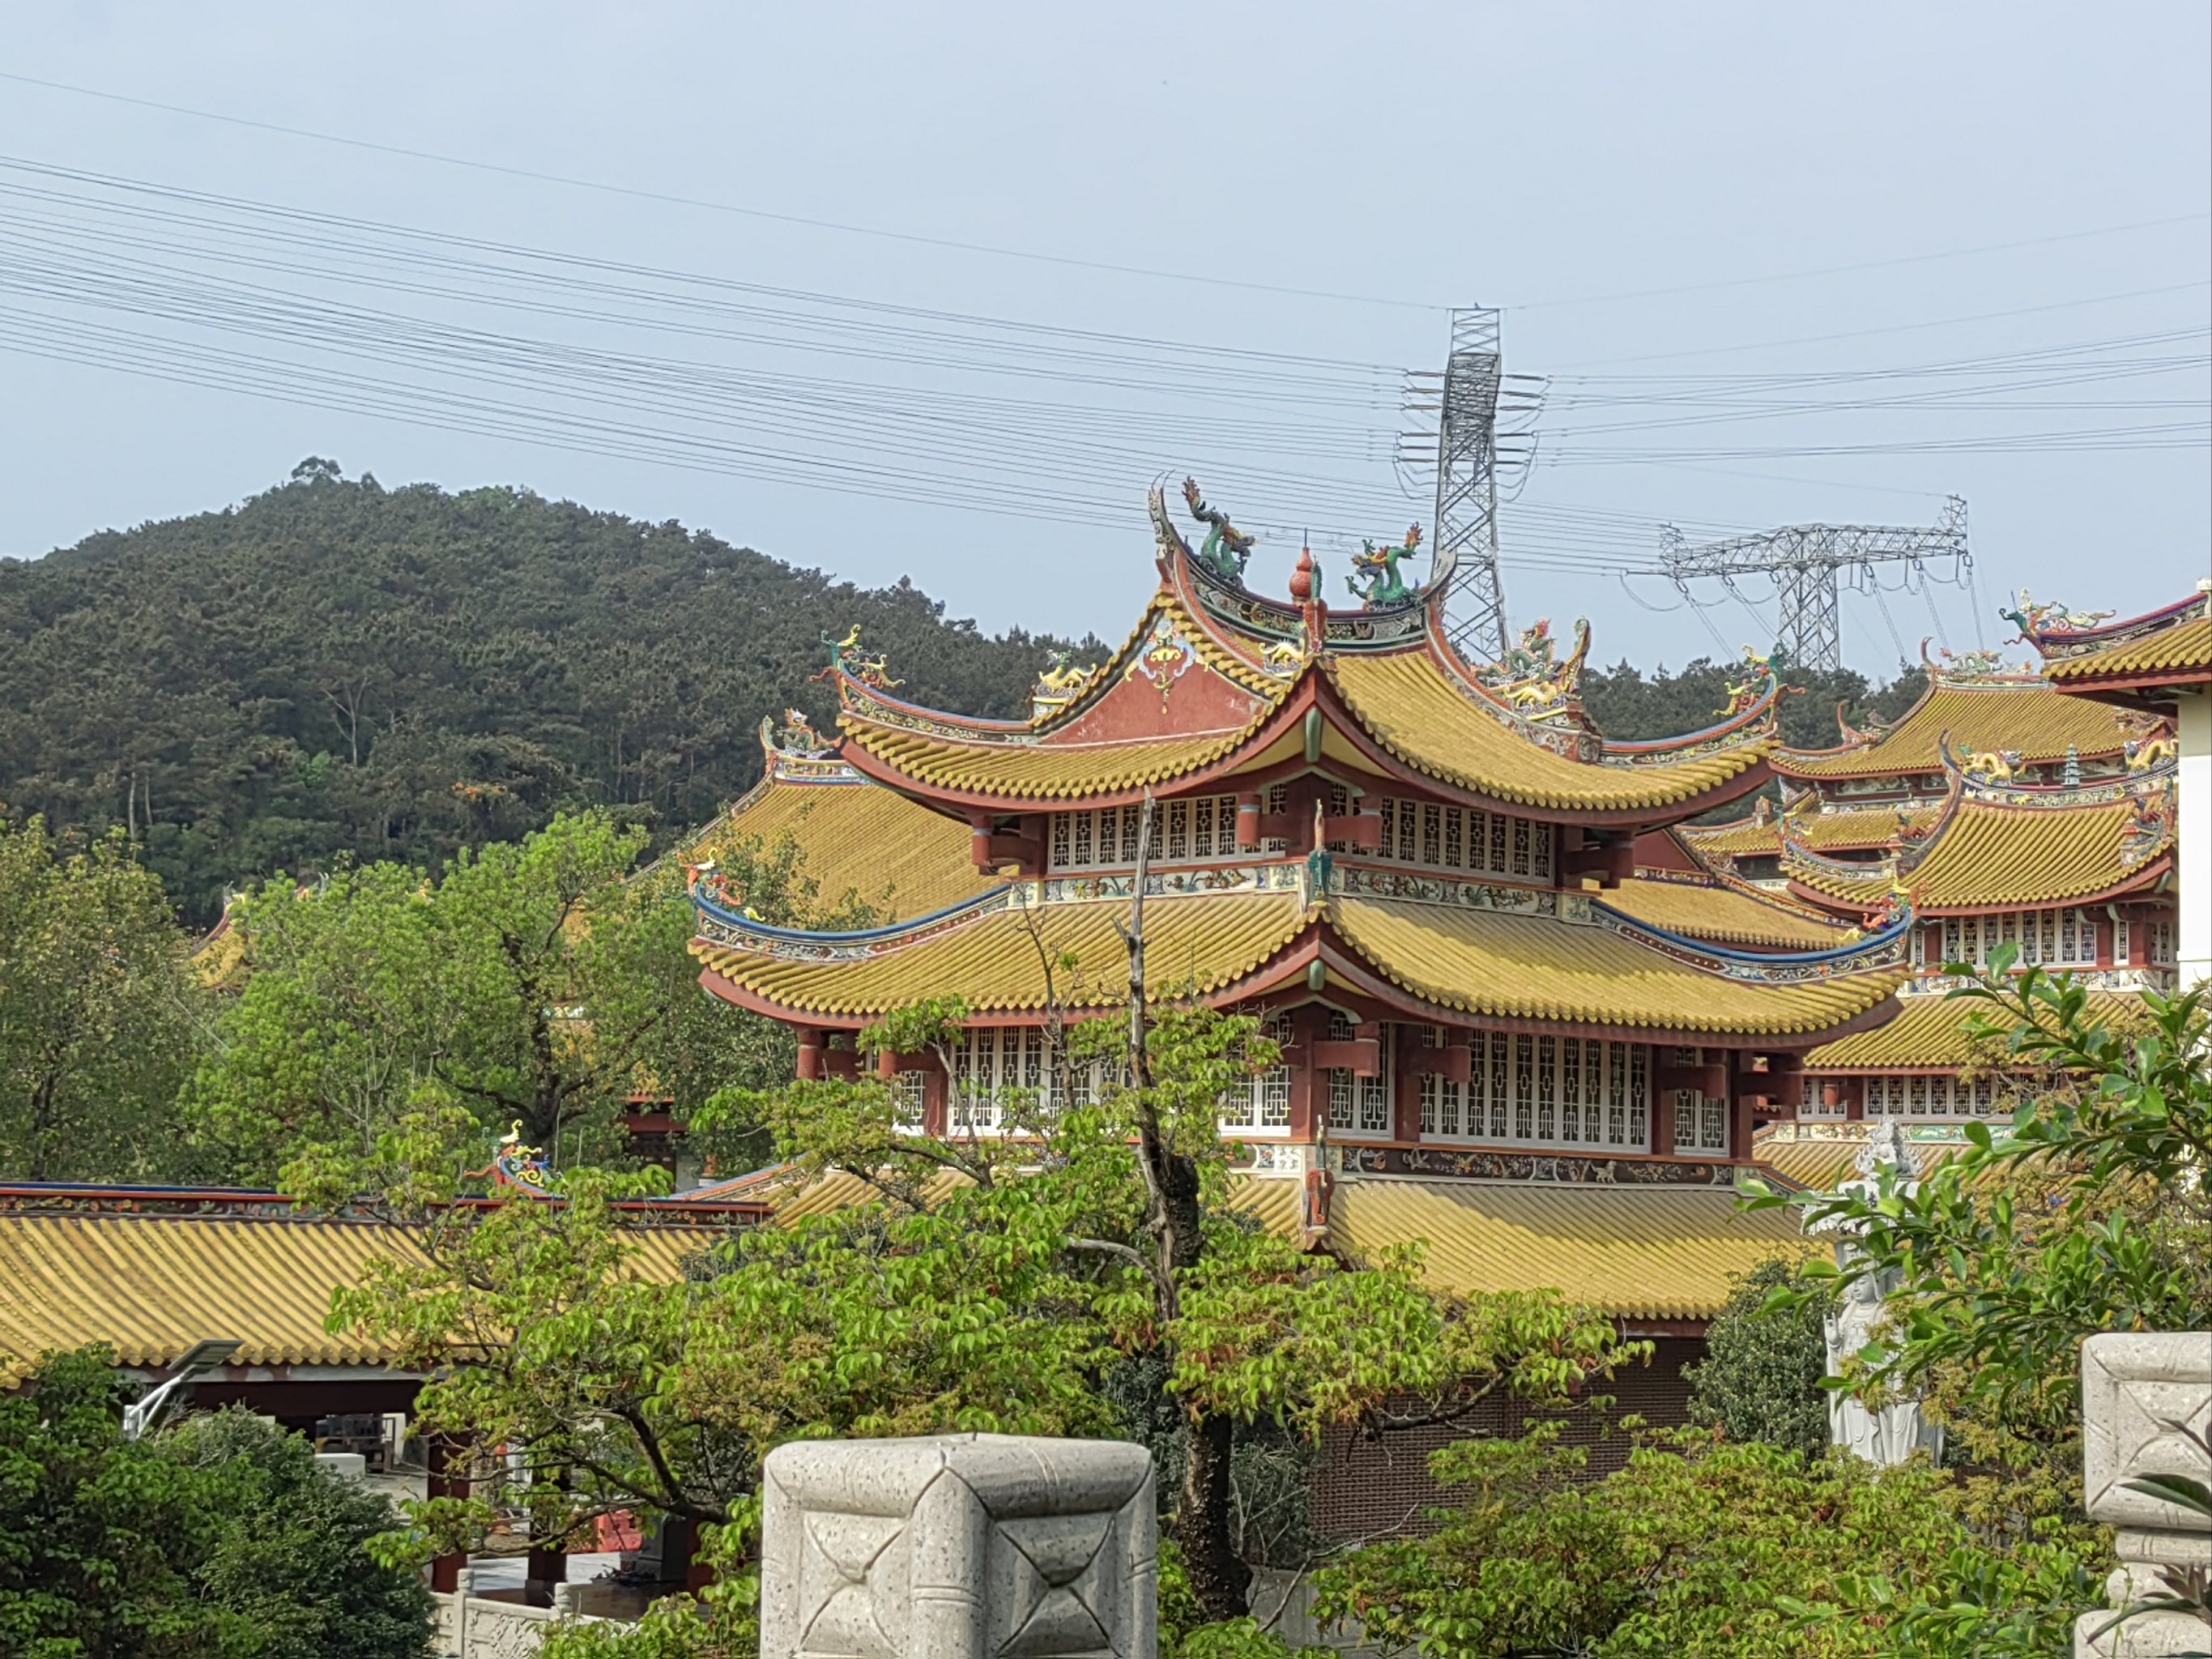
{"type": "Polygon", "coordinates": [[[429,1595],[378,1568],[383,1502],[243,1413],[124,1440],[102,1347],[0,1396],[0,1652],[22,1659],[420,1659],[429,1595]]]}

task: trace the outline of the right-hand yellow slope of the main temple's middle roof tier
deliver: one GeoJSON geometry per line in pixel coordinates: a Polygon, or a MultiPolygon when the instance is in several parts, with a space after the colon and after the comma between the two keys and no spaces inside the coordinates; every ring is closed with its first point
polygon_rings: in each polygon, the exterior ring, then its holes
{"type": "Polygon", "coordinates": [[[1491,1018],[1787,1037],[1854,1020],[1902,980],[1889,971],[1747,984],[1604,927],[1396,900],[1332,900],[1329,920],[1383,978],[1491,1018]]]}

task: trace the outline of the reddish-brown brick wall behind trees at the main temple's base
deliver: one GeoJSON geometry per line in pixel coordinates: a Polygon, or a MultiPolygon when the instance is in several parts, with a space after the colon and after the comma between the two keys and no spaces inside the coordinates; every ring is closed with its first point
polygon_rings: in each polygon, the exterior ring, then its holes
{"type": "MultiPolygon", "coordinates": [[[[1652,1345],[1650,1365],[1621,1371],[1606,1385],[1615,1396],[1613,1418],[1635,1413],[1652,1427],[1674,1429],[1690,1420],[1690,1385],[1683,1367],[1705,1356],[1703,1338],[1670,1336],[1652,1345]]],[[[1429,1480],[1429,1453],[1453,1440],[1524,1433],[1535,1413],[1511,1400],[1484,1400],[1462,1429],[1409,1429],[1380,1440],[1334,1433],[1327,1462],[1314,1482],[1314,1526],[1323,1537],[1391,1537],[1427,1533],[1425,1511],[1449,1504],[1451,1493],[1429,1480]]],[[[1577,1411],[1566,1420],[1562,1444],[1590,1449],[1590,1473],[1604,1475],[1628,1460],[1626,1436],[1606,1436],[1606,1420],[1577,1411]]]]}

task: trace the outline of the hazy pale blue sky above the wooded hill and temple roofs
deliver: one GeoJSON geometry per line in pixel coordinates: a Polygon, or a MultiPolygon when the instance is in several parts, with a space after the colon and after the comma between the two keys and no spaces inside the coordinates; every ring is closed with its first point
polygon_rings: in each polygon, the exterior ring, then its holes
{"type": "MultiPolygon", "coordinates": [[[[226,378],[223,354],[248,352],[265,389],[288,385],[285,354],[336,347],[327,336],[272,345],[199,332],[175,314],[148,321],[146,303],[117,299],[102,268],[100,248],[122,246],[113,215],[100,232],[108,241],[58,243],[53,217],[82,219],[82,208],[58,204],[51,173],[0,168],[0,186],[18,190],[0,197],[0,553],[221,507],[321,453],[387,484],[515,482],[677,518],[863,584],[911,575],[987,628],[1117,637],[1152,584],[1144,491],[1155,476],[1212,462],[1201,482],[1263,526],[1252,580],[1274,591],[1301,529],[1316,531],[1340,595],[1356,533],[1396,540],[1407,520],[1427,520],[1418,482],[1409,498],[1387,462],[1398,425],[1389,385],[1396,369],[1440,365],[1442,307],[1484,303],[1506,307],[1506,367],[1551,376],[1537,465],[1504,513],[1511,611],[1517,622],[1588,613],[1604,659],[1683,661],[1765,626],[1725,595],[1710,595],[1705,619],[1630,597],[1670,602],[1663,586],[1624,586],[1613,573],[1657,549],[1663,520],[1712,531],[1920,524],[1955,491],[1971,504],[1989,644],[2008,633],[1989,613],[2020,584],[2130,615],[2212,566],[2203,0],[206,0],[18,7],[0,71],[759,212],[0,80],[0,155],[15,164],[661,274],[1141,336],[1168,343],[1141,347],[1146,374],[1175,383],[1130,389],[1110,363],[1073,376],[1011,372],[1002,330],[978,330],[1000,349],[980,372],[958,349],[942,356],[942,323],[925,323],[940,334],[922,358],[940,356],[922,361],[911,343],[891,349],[865,332],[891,316],[880,310],[841,312],[841,327],[803,338],[765,323],[765,338],[739,341],[611,319],[606,303],[577,319],[546,305],[518,312],[500,294],[372,292],[316,270],[310,250],[288,254],[290,274],[254,281],[465,321],[529,341],[533,363],[553,345],[588,347],[697,365],[708,378],[679,396],[668,387],[684,374],[639,385],[626,369],[622,442],[591,427],[615,416],[591,414],[593,394],[571,389],[562,396],[580,403],[562,407],[586,414],[566,449],[480,429],[484,398],[535,407],[531,385],[498,392],[482,378],[491,369],[460,358],[394,369],[374,343],[343,347],[356,372],[436,383],[451,394],[436,407],[478,429],[314,407],[327,394],[310,380],[292,387],[294,403],[184,385],[119,367],[184,374],[161,356],[168,347],[113,336],[95,347],[82,327],[184,341],[201,352],[195,380],[226,378]],[[93,290],[102,305],[86,305],[93,290]],[[1248,361],[1272,378],[1239,383],[1243,358],[1221,347],[1270,354],[1248,361]],[[1314,376],[1327,385],[1301,392],[1303,369],[1287,358],[1325,361],[1314,376]],[[770,372],[803,378],[774,396],[801,398],[845,438],[785,425],[768,405],[717,403],[730,376],[770,372]],[[1827,378],[1807,378],[1816,374],[1827,378]],[[1352,383],[1367,389],[1347,398],[1352,383]],[[869,427],[885,398],[883,427],[869,427]],[[1794,411],[1807,398],[1854,407],[1794,411]],[[987,420],[973,414],[984,405],[987,420]],[[779,453],[821,456],[827,445],[843,480],[856,456],[876,456],[905,482],[885,498],[661,465],[653,456],[681,451],[668,447],[670,422],[708,422],[717,442],[748,453],[783,445],[779,453]],[[916,456],[911,431],[929,453],[916,456]],[[1011,451],[995,462],[993,431],[1020,434],[1018,476],[1011,451]],[[1276,453],[1261,458],[1270,445],[1276,453]],[[1053,456],[1066,456],[1064,476],[1053,456]],[[1062,495],[1066,511],[1042,507],[1062,495]]],[[[133,257],[161,265],[175,252],[137,246],[133,257]]],[[[1071,336],[1024,338],[1062,352],[1071,336]]],[[[1756,613],[1756,584],[1747,597],[1756,613]]],[[[1854,597],[1847,655],[1885,668],[1896,639],[1916,646],[1938,626],[1951,646],[1975,644],[1969,595],[1854,597]]]]}

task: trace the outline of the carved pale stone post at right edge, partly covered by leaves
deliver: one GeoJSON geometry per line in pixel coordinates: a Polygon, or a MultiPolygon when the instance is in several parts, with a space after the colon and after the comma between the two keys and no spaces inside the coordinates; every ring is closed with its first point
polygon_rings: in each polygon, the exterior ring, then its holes
{"type": "MultiPolygon", "coordinates": [[[[2143,1475],[2212,1484],[2205,1436],[2212,1436],[2212,1332],[2104,1332],[2081,1345],[2081,1495],[2090,1520],[2119,1528],[2119,1571],[2106,1582],[2115,1610],[2161,1595],[2163,1568],[2212,1568],[2212,1524],[2203,1515],[2128,1491],[2143,1475]]],[[[2075,1624],[2077,1659],[2212,1650],[2212,1626],[2194,1615],[2146,1613],[2106,1630],[2115,1617],[2088,1613],[2075,1624]]]]}

